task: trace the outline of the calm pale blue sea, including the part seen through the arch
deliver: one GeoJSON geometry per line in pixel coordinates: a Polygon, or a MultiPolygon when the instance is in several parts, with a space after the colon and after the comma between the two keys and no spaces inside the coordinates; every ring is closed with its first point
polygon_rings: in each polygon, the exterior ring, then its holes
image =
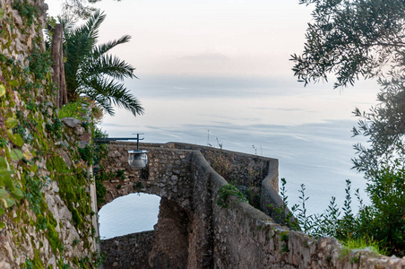
{"type": "MultiPolygon", "coordinates": [[[[342,204],[346,179],[366,200],[366,181],[351,169],[352,145],[364,143],[351,137],[357,124],[351,111],[375,104],[374,82],[332,90],[331,84],[304,88],[294,78],[177,74],[144,75],[126,85],[145,115],[117,110],[105,117],[101,128],[110,137],[142,133],[148,143],[221,143],[226,150],[279,159],[289,204],[299,202],[297,190],[305,184],[308,213],[322,213],[332,196],[342,204]]],[[[99,212],[101,238],[152,230],[158,212],[158,196],[116,199],[99,212]]]]}

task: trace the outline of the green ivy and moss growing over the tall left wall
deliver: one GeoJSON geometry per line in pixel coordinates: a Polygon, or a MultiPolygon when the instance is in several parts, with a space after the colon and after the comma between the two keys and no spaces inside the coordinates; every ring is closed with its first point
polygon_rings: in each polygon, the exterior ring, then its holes
{"type": "MultiPolygon", "coordinates": [[[[70,221],[80,231],[76,245],[90,250],[95,237],[90,221],[94,214],[89,190],[91,175],[78,147],[66,139],[73,134],[65,134],[68,130],[52,104],[56,86],[51,82],[49,54],[41,49],[38,16],[37,6],[27,1],[14,1],[11,7],[0,4],[0,233],[13,230],[12,247],[27,237],[31,241],[46,239],[59,268],[93,268],[99,265],[98,253],[65,256],[66,246],[58,232],[63,229],[63,222],[51,213],[45,196],[56,182],[58,194],[72,213],[70,221]],[[15,27],[10,8],[20,13],[23,28],[15,27]],[[34,33],[32,25],[37,26],[34,33]],[[19,34],[32,37],[25,49],[29,54],[27,66],[11,56],[12,40],[19,34]]],[[[39,246],[43,244],[41,241],[39,246]]],[[[35,244],[31,246],[34,256],[15,266],[42,268],[47,264],[47,257],[35,244]]]]}

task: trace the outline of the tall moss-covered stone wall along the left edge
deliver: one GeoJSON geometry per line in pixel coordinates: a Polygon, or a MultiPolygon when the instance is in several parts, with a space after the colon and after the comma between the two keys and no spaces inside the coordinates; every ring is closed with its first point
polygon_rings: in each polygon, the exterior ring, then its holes
{"type": "Polygon", "coordinates": [[[57,117],[46,11],[43,0],[0,0],[0,268],[97,266],[78,147],[90,132],[57,117]]]}

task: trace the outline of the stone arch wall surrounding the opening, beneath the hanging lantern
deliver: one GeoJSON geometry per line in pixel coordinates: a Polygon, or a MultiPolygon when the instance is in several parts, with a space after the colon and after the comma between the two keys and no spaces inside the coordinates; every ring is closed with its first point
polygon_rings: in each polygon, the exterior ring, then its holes
{"type": "Polygon", "coordinates": [[[131,268],[131,263],[137,268],[186,268],[193,218],[192,151],[151,148],[147,167],[134,170],[127,162],[127,152],[134,146],[131,143],[108,146],[108,159],[102,165],[113,177],[103,182],[107,189],[105,201],[132,193],[159,195],[158,223],[152,232],[103,241],[103,251],[108,253],[106,268],[113,264],[131,268]],[[132,247],[121,249],[128,246],[132,247]]]}

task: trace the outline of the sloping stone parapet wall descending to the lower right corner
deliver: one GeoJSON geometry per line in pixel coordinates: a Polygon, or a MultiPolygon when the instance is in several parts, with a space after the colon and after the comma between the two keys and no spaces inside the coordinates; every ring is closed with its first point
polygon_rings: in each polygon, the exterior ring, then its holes
{"type": "MultiPolygon", "coordinates": [[[[371,251],[352,251],[340,256],[336,239],[311,239],[306,234],[274,223],[269,216],[246,203],[222,208],[218,190],[227,184],[215,173],[200,152],[194,153],[194,180],[204,187],[194,192],[194,216],[200,218],[195,242],[211,243],[211,268],[403,268],[405,259],[378,256],[371,251]],[[196,200],[199,199],[197,202],[196,200]]],[[[198,260],[189,263],[203,268],[198,260]]],[[[189,264],[190,265],[190,264],[189,264]]]]}

